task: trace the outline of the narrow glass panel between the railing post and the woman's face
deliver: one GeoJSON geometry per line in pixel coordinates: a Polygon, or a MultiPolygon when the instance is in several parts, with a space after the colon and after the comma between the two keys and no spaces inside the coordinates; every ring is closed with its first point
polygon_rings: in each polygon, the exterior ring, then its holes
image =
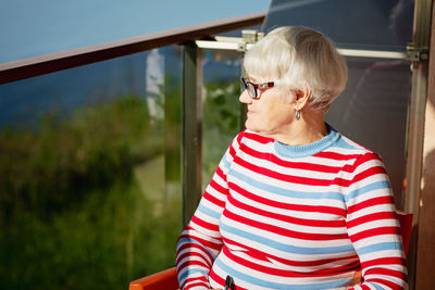
{"type": "Polygon", "coordinates": [[[203,50],[202,189],[240,130],[241,53],[203,50]]]}

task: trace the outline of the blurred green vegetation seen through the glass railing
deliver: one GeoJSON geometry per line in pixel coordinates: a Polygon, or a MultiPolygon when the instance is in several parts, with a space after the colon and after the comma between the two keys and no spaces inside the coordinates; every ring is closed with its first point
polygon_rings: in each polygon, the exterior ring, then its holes
{"type": "MultiPolygon", "coordinates": [[[[237,83],[206,91],[204,184],[239,126],[237,83]]],[[[164,121],[129,96],[0,133],[0,289],[126,289],[174,265],[179,99],[165,104],[164,121]]]]}

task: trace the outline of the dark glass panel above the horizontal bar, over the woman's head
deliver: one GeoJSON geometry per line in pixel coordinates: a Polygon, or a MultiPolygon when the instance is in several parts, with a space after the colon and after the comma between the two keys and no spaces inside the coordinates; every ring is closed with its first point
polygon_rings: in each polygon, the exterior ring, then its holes
{"type": "Polygon", "coordinates": [[[272,0],[264,31],[301,25],[339,47],[405,51],[412,41],[413,0],[272,0]]]}

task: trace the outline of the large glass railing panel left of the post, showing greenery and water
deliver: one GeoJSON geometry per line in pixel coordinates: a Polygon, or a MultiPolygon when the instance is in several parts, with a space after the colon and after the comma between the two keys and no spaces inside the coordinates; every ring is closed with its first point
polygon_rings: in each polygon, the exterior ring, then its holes
{"type": "Polygon", "coordinates": [[[179,72],[174,46],[0,86],[1,287],[122,289],[174,264],[179,72]]]}

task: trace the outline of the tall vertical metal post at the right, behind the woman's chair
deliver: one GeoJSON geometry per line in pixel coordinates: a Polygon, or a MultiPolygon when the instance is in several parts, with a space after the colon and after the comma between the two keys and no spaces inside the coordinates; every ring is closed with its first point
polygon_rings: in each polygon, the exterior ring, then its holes
{"type": "Polygon", "coordinates": [[[425,106],[427,98],[427,50],[431,41],[432,1],[417,0],[414,7],[413,43],[408,46],[411,55],[411,96],[408,108],[407,191],[403,209],[413,213],[413,229],[408,254],[409,288],[415,287],[418,224],[423,166],[425,106]]]}

